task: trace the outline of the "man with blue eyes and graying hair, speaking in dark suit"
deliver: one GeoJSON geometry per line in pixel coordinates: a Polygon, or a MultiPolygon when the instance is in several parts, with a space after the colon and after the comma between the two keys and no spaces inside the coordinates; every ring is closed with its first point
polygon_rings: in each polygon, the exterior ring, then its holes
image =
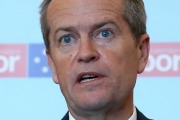
{"type": "Polygon", "coordinates": [[[141,0],[44,0],[41,27],[63,120],[148,120],[133,104],[149,55],[141,0]]]}

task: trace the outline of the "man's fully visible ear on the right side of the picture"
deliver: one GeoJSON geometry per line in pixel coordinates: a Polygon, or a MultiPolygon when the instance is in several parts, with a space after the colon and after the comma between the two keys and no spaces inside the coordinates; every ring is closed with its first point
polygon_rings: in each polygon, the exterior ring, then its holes
{"type": "Polygon", "coordinates": [[[140,55],[139,55],[139,67],[137,73],[140,74],[144,71],[149,57],[150,38],[148,34],[143,34],[141,36],[138,43],[138,48],[140,51],[140,55]]]}

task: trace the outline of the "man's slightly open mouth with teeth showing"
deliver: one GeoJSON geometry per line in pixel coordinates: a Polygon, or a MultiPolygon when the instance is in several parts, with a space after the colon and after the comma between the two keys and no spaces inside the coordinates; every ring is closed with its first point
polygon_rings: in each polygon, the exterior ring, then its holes
{"type": "Polygon", "coordinates": [[[97,74],[97,73],[85,73],[85,74],[80,74],[78,76],[78,81],[79,83],[86,83],[90,81],[97,80],[97,78],[102,77],[102,75],[97,74]]]}

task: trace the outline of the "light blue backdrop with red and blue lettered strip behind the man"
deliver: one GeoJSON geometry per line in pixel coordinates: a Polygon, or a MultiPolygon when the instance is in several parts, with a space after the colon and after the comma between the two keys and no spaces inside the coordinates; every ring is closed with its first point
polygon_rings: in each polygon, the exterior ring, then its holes
{"type": "MultiPolygon", "coordinates": [[[[45,60],[41,2],[0,2],[0,120],[60,120],[67,112],[45,60]]],[[[152,44],[134,102],[149,118],[180,120],[180,1],[144,2],[152,44]]]]}

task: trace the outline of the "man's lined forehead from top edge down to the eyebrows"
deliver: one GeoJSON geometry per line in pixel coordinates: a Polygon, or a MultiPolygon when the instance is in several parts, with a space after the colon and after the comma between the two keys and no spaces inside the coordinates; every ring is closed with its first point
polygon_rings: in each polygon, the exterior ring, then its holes
{"type": "Polygon", "coordinates": [[[52,32],[68,26],[90,29],[101,22],[124,22],[122,10],[123,0],[52,0],[47,20],[52,32]]]}

